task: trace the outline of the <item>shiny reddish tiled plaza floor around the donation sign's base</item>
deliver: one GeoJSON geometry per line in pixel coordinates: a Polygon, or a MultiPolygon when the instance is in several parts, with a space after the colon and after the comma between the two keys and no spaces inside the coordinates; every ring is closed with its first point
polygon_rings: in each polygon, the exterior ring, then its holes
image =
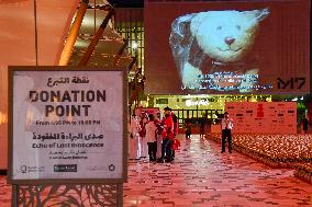
{"type": "MultiPolygon", "coordinates": [[[[131,162],[124,206],[312,206],[312,185],[220,145],[193,136],[172,163],[131,162]]],[[[10,187],[0,177],[0,207],[10,206],[10,187]]]]}

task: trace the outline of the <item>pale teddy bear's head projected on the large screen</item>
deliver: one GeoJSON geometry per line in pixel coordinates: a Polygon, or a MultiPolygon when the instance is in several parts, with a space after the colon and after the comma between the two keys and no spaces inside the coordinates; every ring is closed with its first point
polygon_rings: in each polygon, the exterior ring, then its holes
{"type": "Polygon", "coordinates": [[[222,62],[233,62],[249,51],[258,23],[267,15],[267,9],[201,12],[192,19],[190,31],[209,57],[222,62]]]}

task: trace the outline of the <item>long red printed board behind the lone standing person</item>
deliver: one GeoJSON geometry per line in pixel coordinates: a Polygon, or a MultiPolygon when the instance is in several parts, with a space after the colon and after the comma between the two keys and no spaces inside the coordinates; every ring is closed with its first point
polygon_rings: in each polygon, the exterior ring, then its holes
{"type": "Polygon", "coordinates": [[[232,102],[225,111],[234,120],[233,133],[297,134],[296,102],[232,102]]]}

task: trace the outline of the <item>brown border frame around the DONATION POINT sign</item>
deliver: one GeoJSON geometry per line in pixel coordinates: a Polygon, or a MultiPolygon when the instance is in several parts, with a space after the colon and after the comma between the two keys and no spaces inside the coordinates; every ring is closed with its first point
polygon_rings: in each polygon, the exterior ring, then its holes
{"type": "MultiPolygon", "coordinates": [[[[9,123],[9,130],[8,130],[8,183],[13,185],[38,185],[38,184],[122,184],[127,180],[127,128],[126,128],[126,120],[127,120],[127,71],[122,68],[112,68],[109,69],[101,69],[100,67],[68,67],[68,66],[9,66],[8,72],[8,80],[9,80],[9,105],[8,105],[8,123],[9,123]],[[118,179],[30,179],[30,180],[19,180],[13,179],[12,170],[13,170],[13,139],[14,139],[14,131],[13,131],[13,78],[14,72],[16,71],[68,71],[75,73],[76,71],[120,71],[122,72],[122,118],[123,118],[123,137],[122,137],[122,175],[118,179]]],[[[75,74],[74,74],[75,76],[75,74]]]]}

